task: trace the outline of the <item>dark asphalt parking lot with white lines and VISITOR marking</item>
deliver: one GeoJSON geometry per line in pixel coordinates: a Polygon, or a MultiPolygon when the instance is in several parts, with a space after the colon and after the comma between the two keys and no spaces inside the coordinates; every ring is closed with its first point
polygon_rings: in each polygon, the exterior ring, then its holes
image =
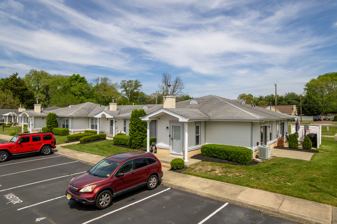
{"type": "Polygon", "coordinates": [[[162,185],[115,197],[104,210],[68,200],[71,178],[90,168],[39,153],[0,163],[1,223],[296,223],[162,185]]]}

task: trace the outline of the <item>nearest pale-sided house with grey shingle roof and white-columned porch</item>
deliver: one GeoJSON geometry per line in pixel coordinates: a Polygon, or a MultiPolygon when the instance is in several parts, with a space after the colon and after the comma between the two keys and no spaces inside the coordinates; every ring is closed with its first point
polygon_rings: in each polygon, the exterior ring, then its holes
{"type": "MultiPolygon", "coordinates": [[[[215,95],[175,102],[164,97],[163,107],[142,117],[157,121],[157,153],[188,158],[200,153],[204,144],[244,146],[256,151],[258,145],[276,145],[285,136],[288,119],[294,116],[246,105],[215,95]]],[[[149,136],[148,143],[149,147],[149,136]]]]}

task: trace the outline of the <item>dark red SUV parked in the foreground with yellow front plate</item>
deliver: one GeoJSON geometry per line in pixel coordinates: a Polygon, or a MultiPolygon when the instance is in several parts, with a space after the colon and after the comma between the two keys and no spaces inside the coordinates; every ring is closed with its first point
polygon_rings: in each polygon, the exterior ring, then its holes
{"type": "Polygon", "coordinates": [[[74,177],[66,190],[68,199],[107,208],[112,197],[139,187],[156,188],[163,176],[161,163],[149,152],[134,151],[108,156],[89,171],[74,177]]]}

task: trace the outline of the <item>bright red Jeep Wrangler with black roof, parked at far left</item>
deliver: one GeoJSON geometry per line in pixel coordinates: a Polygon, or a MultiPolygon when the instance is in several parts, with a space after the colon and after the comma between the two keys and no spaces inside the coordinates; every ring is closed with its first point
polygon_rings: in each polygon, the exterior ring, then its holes
{"type": "Polygon", "coordinates": [[[14,135],[7,143],[0,144],[0,163],[8,160],[10,155],[19,155],[40,151],[42,155],[52,153],[56,146],[52,133],[32,133],[14,135]]]}

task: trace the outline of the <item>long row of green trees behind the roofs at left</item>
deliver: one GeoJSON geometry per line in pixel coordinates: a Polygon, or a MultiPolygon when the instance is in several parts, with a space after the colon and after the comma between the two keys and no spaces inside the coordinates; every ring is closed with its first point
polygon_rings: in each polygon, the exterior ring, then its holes
{"type": "MultiPolygon", "coordinates": [[[[171,94],[177,96],[177,102],[192,98],[183,93],[182,79],[179,76],[174,78],[169,73],[161,75],[158,90],[163,89],[167,94],[169,83],[172,84],[171,94]]],[[[32,69],[24,78],[20,78],[18,73],[0,78],[0,109],[15,109],[20,104],[32,109],[36,99],[42,107],[66,107],[85,102],[109,105],[113,97],[118,105],[163,103],[161,91],[147,95],[142,91],[142,86],[139,80],[122,80],[118,83],[109,77],[96,77],[88,82],[80,74],[51,75],[32,69]]]]}

